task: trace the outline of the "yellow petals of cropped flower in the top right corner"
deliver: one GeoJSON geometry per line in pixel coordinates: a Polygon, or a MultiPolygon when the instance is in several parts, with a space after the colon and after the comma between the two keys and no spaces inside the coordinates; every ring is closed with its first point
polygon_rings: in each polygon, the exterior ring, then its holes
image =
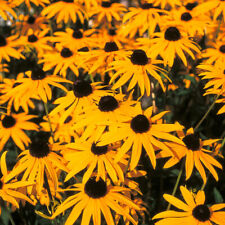
{"type": "Polygon", "coordinates": [[[213,20],[216,20],[220,15],[225,19],[225,2],[223,0],[210,0],[199,4],[196,11],[203,14],[213,10],[213,20]]]}

